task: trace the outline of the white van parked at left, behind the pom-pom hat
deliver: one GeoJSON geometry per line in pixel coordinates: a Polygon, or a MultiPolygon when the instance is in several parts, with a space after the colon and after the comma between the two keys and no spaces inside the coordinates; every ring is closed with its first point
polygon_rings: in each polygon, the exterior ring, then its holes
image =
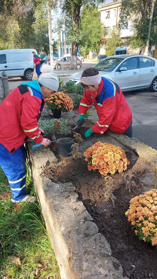
{"type": "Polygon", "coordinates": [[[21,77],[31,80],[34,68],[33,54],[37,51],[33,48],[6,49],[0,51],[0,77],[2,71],[6,71],[8,77],[21,77]]]}

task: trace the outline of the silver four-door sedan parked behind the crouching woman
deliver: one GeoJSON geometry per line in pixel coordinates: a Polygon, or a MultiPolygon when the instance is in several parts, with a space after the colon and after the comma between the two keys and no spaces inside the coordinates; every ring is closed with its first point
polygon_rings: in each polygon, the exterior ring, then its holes
{"type": "MultiPolygon", "coordinates": [[[[116,82],[123,92],[148,88],[157,92],[157,59],[144,55],[110,56],[97,63],[93,68],[100,75],[116,82]]],[[[69,78],[77,84],[83,71],[69,78]]]]}

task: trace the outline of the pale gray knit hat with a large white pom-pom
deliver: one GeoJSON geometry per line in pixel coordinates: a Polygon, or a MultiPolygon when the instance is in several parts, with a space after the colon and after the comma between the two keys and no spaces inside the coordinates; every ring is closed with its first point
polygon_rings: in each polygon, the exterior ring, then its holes
{"type": "Polygon", "coordinates": [[[57,75],[53,73],[53,68],[44,63],[40,71],[42,74],[38,79],[38,83],[56,92],[59,88],[59,82],[57,75]]]}

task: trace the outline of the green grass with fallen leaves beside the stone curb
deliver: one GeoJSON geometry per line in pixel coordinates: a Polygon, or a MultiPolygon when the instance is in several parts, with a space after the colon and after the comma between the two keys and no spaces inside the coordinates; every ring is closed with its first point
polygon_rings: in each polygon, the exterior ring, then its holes
{"type": "MultiPolygon", "coordinates": [[[[35,194],[27,167],[27,192],[35,194]]],[[[0,168],[0,194],[10,192],[8,180],[0,168]]],[[[59,279],[59,267],[51,248],[41,214],[40,203],[20,203],[13,209],[10,198],[0,199],[0,278],[34,279],[39,271],[40,279],[59,279]],[[8,260],[8,256],[20,258],[20,265],[8,260]]]]}

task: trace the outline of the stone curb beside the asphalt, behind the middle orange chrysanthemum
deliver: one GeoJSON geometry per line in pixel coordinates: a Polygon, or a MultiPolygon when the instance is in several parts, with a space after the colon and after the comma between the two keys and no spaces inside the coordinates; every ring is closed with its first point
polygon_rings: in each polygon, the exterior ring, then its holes
{"type": "Polygon", "coordinates": [[[115,134],[111,131],[106,131],[112,138],[118,140],[123,145],[135,151],[139,157],[146,159],[152,167],[157,167],[157,150],[144,144],[135,138],[128,138],[122,134],[115,134]]]}

